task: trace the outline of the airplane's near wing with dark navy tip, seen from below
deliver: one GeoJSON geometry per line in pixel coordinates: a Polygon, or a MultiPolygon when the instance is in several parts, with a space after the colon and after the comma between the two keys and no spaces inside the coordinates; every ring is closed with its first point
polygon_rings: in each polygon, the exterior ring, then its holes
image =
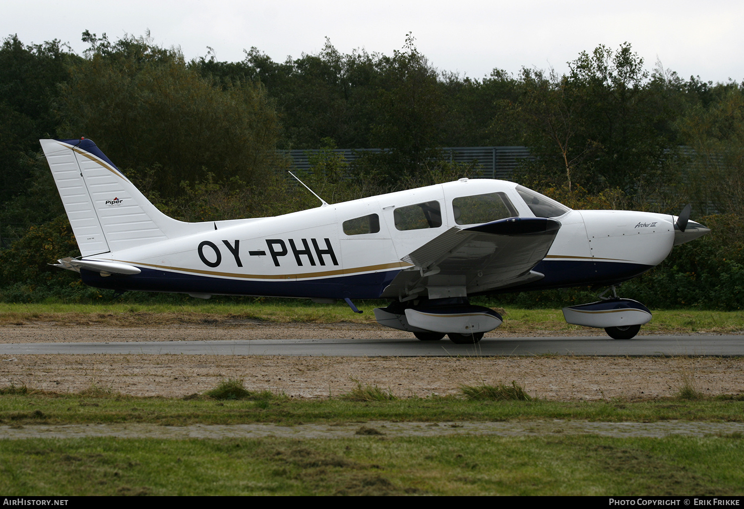
{"type": "Polygon", "coordinates": [[[465,297],[537,281],[532,269],[551,249],[560,222],[547,217],[510,217],[470,228],[449,228],[403,257],[400,272],[382,293],[402,301],[465,297]]]}

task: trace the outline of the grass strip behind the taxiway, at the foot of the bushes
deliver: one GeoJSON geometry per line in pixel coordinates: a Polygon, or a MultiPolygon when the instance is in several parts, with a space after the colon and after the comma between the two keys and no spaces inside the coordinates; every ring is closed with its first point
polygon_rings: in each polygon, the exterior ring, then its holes
{"type": "MultiPolygon", "coordinates": [[[[479,304],[489,304],[488,302],[479,304]]],[[[0,326],[53,323],[118,327],[171,327],[174,324],[244,326],[246,321],[270,323],[375,324],[374,307],[386,301],[357,301],[366,313],[352,313],[346,304],[314,304],[302,299],[255,299],[248,303],[189,301],[189,304],[7,304],[0,303],[0,326]]],[[[561,310],[498,308],[504,323],[498,330],[516,336],[551,330],[558,333],[586,330],[566,324],[561,310]]],[[[641,333],[743,333],[744,312],[653,310],[652,321],[641,333]]],[[[602,333],[597,329],[597,333],[602,333]]]]}

